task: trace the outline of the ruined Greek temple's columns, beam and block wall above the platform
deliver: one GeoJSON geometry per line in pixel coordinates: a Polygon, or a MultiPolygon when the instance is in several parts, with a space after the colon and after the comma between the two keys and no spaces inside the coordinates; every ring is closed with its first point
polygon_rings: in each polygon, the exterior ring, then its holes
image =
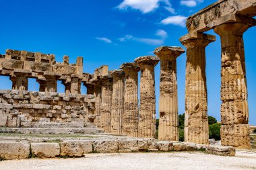
{"type": "Polygon", "coordinates": [[[156,56],[135,56],[117,70],[103,65],[93,74],[83,72],[82,57],[70,64],[69,56],[56,62],[54,54],[6,50],[0,55],[0,75],[9,77],[12,89],[0,90],[0,127],[65,127],[156,138],[155,77],[160,77],[158,140],[179,141],[177,58],[186,53],[185,142],[208,144],[205,47],[216,37],[204,32],[213,29],[222,50],[221,142],[249,148],[243,33],[255,26],[255,15],[255,0],[217,1],[187,19],[188,34],[180,38],[186,49],[160,46],[156,56]],[[38,91],[28,91],[29,78],[40,84],[38,91]],[[57,81],[65,93],[58,93],[57,81]],[[81,86],[87,94],[81,94],[81,86]]]}

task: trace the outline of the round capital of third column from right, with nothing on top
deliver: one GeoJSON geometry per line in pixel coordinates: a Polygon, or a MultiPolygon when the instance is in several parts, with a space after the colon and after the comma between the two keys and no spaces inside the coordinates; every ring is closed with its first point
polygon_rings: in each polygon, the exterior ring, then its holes
{"type": "Polygon", "coordinates": [[[154,54],[160,58],[160,60],[176,60],[178,56],[183,54],[185,50],[179,46],[160,46],[154,50],[154,54]]]}

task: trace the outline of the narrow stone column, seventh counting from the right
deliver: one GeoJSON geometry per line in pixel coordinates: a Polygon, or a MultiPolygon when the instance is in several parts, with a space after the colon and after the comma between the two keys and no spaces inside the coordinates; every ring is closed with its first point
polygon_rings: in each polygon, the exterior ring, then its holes
{"type": "Polygon", "coordinates": [[[102,82],[102,100],[100,108],[100,122],[104,132],[110,133],[110,115],[111,115],[111,100],[112,100],[112,85],[113,78],[110,75],[101,76],[102,82]]]}

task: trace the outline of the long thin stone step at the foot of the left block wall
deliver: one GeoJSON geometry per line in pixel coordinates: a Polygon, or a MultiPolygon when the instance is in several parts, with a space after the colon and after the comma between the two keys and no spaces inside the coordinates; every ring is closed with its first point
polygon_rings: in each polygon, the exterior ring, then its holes
{"type": "Polygon", "coordinates": [[[0,128],[0,133],[8,134],[98,134],[98,128],[0,128]]]}

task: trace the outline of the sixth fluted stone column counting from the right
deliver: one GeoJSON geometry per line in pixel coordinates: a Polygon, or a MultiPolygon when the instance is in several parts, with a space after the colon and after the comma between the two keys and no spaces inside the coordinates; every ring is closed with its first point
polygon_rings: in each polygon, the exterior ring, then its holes
{"type": "Polygon", "coordinates": [[[125,95],[125,73],[120,70],[111,71],[113,92],[111,103],[111,129],[113,134],[123,133],[123,111],[125,95]]]}

